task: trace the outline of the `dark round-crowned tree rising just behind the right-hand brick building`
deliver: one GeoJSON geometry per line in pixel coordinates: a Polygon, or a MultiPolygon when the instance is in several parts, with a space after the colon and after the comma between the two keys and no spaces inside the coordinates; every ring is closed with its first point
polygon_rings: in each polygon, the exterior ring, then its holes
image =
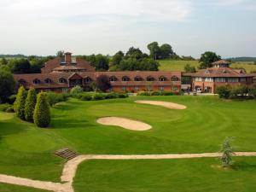
{"type": "Polygon", "coordinates": [[[221,60],[221,56],[214,52],[207,51],[201,55],[200,68],[212,67],[212,62],[221,60]]]}

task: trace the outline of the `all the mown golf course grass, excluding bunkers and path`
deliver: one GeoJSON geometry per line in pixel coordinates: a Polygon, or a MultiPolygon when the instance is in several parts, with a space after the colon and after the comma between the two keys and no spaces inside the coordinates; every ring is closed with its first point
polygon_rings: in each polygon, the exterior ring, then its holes
{"type": "MultiPolygon", "coordinates": [[[[78,154],[215,153],[225,137],[239,152],[256,148],[256,102],[218,96],[131,96],[83,102],[70,98],[51,108],[51,124],[40,129],[14,113],[0,113],[0,174],[61,182],[66,160],[54,152],[78,154]],[[137,103],[172,102],[183,110],[137,103]],[[119,117],[150,125],[144,131],[102,125],[97,119],[119,117]]],[[[175,160],[85,160],[73,179],[75,192],[95,191],[254,191],[256,157],[234,157],[232,168],[218,158],[175,160]]],[[[0,183],[1,192],[44,191],[0,183]]]]}

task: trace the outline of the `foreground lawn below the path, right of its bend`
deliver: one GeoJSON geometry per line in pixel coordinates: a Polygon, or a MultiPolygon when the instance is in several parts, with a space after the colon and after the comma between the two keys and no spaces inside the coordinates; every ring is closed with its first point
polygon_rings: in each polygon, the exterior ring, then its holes
{"type": "Polygon", "coordinates": [[[74,179],[76,192],[254,192],[256,158],[236,158],[235,169],[218,160],[91,160],[74,179]]]}

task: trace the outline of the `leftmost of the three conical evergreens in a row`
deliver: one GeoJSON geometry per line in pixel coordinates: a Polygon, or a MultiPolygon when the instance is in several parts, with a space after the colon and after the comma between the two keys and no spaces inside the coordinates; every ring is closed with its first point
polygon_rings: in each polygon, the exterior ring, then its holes
{"type": "Polygon", "coordinates": [[[25,120],[25,102],[26,102],[26,90],[23,86],[20,86],[18,94],[16,96],[14,109],[18,118],[25,120]]]}

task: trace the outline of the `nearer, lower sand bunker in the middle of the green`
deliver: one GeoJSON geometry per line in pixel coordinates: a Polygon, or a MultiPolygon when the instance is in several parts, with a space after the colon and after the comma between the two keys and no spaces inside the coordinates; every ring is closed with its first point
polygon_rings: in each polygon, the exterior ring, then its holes
{"type": "Polygon", "coordinates": [[[132,131],[146,131],[151,129],[151,125],[145,124],[141,121],[119,118],[119,117],[105,117],[97,119],[97,123],[102,125],[115,125],[123,127],[132,131]]]}

